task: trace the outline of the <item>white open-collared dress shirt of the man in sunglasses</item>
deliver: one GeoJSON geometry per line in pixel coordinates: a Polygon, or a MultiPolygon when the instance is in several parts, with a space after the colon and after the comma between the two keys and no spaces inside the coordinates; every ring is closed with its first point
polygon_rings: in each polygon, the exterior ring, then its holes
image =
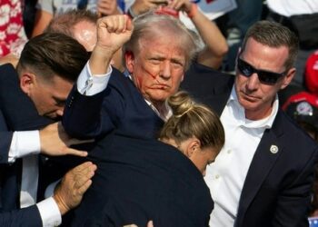
{"type": "Polygon", "coordinates": [[[214,200],[210,226],[234,226],[247,171],[263,132],[272,127],[277,111],[276,97],[272,114],[259,121],[250,121],[245,118],[243,107],[238,103],[234,88],[232,89],[221,115],[225,144],[214,163],[207,166],[204,177],[214,200]]]}

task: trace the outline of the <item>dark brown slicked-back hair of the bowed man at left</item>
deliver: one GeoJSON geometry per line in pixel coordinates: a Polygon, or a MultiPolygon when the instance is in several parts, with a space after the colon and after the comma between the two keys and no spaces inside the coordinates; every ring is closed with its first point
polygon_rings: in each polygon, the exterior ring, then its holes
{"type": "Polygon", "coordinates": [[[23,69],[32,71],[45,80],[55,74],[75,82],[89,54],[74,38],[58,33],[37,35],[25,44],[17,64],[20,74],[23,69]]]}

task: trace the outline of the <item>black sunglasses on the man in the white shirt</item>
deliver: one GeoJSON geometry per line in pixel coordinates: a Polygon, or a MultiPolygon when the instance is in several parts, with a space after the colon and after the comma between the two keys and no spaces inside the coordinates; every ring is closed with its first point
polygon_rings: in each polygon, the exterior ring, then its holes
{"type": "Polygon", "coordinates": [[[250,77],[254,73],[257,74],[260,82],[264,84],[275,84],[279,78],[286,74],[286,72],[278,74],[271,71],[255,69],[251,64],[246,63],[240,57],[237,58],[237,68],[246,77],[250,77]]]}

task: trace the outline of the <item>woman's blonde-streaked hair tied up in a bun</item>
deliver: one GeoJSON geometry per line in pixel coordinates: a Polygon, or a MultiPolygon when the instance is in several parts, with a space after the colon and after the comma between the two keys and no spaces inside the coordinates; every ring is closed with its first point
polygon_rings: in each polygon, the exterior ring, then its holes
{"type": "Polygon", "coordinates": [[[173,139],[178,145],[195,137],[201,148],[214,147],[221,150],[224,145],[224,127],[219,117],[203,104],[195,104],[186,92],[178,92],[167,100],[173,116],[164,123],[160,139],[173,139]]]}

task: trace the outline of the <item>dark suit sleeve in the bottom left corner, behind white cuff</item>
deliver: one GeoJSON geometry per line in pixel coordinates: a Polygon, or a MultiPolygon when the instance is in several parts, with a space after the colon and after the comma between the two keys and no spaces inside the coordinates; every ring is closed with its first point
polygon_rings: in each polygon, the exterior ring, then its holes
{"type": "Polygon", "coordinates": [[[42,219],[36,205],[16,210],[13,212],[0,213],[0,226],[2,227],[41,227],[42,219]]]}

